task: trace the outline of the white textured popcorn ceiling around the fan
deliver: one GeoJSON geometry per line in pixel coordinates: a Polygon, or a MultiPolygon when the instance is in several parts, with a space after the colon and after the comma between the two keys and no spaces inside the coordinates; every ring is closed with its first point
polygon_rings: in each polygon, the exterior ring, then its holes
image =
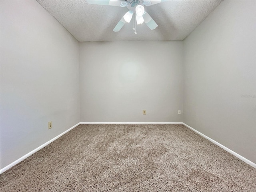
{"type": "Polygon", "coordinates": [[[133,19],[119,32],[113,28],[126,7],[88,4],[86,0],[37,0],[78,41],[184,40],[222,0],[167,0],[145,10],[158,24],[150,30],[133,19]]]}

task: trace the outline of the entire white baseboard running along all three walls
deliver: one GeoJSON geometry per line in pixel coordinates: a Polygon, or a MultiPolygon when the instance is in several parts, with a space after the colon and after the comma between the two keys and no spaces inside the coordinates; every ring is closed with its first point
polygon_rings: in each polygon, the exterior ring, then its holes
{"type": "Polygon", "coordinates": [[[38,150],[44,148],[45,146],[47,146],[48,144],[50,144],[51,142],[53,142],[54,140],[60,138],[62,135],[66,134],[67,132],[69,132],[70,130],[72,130],[73,128],[75,128],[76,126],[80,125],[80,124],[183,124],[184,126],[190,128],[191,130],[193,130],[194,132],[198,133],[199,135],[203,136],[204,138],[208,139],[209,141],[213,142],[214,144],[220,146],[221,148],[223,148],[224,150],[226,150],[227,152],[233,154],[234,156],[236,156],[237,158],[239,158],[240,160],[246,162],[247,164],[249,164],[250,166],[256,168],[256,164],[254,162],[251,162],[250,160],[244,158],[243,156],[237,154],[236,152],[230,150],[229,148],[225,147],[224,145],[216,142],[215,140],[209,138],[208,136],[202,134],[201,132],[195,130],[194,128],[188,126],[185,123],[182,122],[80,122],[74,126],[72,126],[71,128],[69,128],[68,130],[64,131],[63,133],[59,134],[58,136],[54,137],[53,139],[51,139],[50,141],[42,144],[41,146],[39,146],[38,148],[32,150],[31,152],[29,152],[28,154],[22,156],[21,158],[19,158],[18,160],[12,162],[11,164],[9,164],[8,166],[2,168],[0,170],[0,174],[2,174],[3,172],[5,172],[6,170],[10,169],[11,167],[13,167],[14,165],[18,164],[19,162],[23,161],[24,159],[28,158],[29,156],[31,156],[32,154],[34,154],[35,152],[37,152],[38,150]]]}

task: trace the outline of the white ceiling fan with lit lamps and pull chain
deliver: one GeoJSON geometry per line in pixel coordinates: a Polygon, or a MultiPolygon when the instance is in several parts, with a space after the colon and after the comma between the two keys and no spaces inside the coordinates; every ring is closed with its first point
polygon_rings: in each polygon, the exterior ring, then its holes
{"type": "MultiPolygon", "coordinates": [[[[118,32],[122,29],[124,24],[130,23],[132,20],[132,16],[134,14],[134,19],[136,16],[137,24],[142,24],[143,22],[151,29],[154,30],[157,28],[156,22],[152,19],[152,17],[145,11],[145,6],[151,6],[157,3],[160,3],[164,0],[87,0],[89,4],[98,4],[98,5],[110,5],[110,6],[120,6],[128,8],[128,12],[124,14],[121,20],[118,22],[116,27],[113,29],[114,32],[118,32]]],[[[135,28],[133,28],[135,30],[135,28]]],[[[136,33],[136,30],[134,32],[136,33]]]]}

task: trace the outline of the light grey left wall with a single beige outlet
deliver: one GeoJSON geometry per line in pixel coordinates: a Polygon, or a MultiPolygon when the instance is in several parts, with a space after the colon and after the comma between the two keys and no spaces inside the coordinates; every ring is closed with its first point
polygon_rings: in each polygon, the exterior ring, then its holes
{"type": "Polygon", "coordinates": [[[79,122],[79,58],[78,41],[38,2],[0,6],[4,168],[79,122]]]}

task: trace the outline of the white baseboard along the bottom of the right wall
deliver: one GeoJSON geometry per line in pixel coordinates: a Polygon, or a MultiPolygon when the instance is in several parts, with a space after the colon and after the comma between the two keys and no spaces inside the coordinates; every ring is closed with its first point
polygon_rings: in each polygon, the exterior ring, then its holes
{"type": "Polygon", "coordinates": [[[236,156],[236,157],[239,158],[240,160],[246,162],[248,165],[250,165],[250,166],[256,168],[256,164],[255,164],[254,162],[252,162],[252,161],[250,161],[250,160],[244,158],[244,157],[241,156],[240,154],[237,154],[236,152],[234,152],[234,151],[232,151],[231,149],[225,147],[224,145],[222,145],[222,144],[216,142],[215,140],[213,140],[213,139],[211,139],[210,137],[208,137],[208,136],[202,134],[201,132],[195,130],[194,128],[188,126],[187,124],[185,124],[185,123],[182,123],[182,124],[183,124],[184,126],[186,126],[187,128],[190,128],[191,130],[193,130],[193,131],[196,132],[197,134],[201,135],[202,137],[208,139],[210,142],[213,142],[214,144],[218,145],[218,146],[221,147],[222,149],[224,149],[224,150],[226,150],[227,152],[231,153],[232,155],[236,156]]]}

